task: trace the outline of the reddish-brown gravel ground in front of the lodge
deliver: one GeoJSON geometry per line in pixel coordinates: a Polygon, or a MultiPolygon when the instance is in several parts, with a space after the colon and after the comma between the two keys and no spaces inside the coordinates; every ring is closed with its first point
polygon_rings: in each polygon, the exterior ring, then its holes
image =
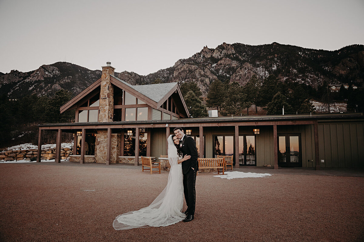
{"type": "Polygon", "coordinates": [[[0,241],[364,241],[364,177],[307,169],[238,169],[274,175],[232,180],[201,173],[195,220],[115,231],[117,215],[148,206],[167,183],[168,172],[141,169],[0,164],[0,241]]]}

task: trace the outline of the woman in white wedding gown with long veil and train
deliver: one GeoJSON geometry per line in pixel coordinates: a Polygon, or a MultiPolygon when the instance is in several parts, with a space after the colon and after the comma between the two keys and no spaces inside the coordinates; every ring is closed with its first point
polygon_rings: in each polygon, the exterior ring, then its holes
{"type": "Polygon", "coordinates": [[[178,151],[179,139],[175,135],[168,137],[168,160],[171,169],[166,188],[146,208],[117,216],[112,224],[115,230],[143,227],[168,226],[185,219],[183,214],[183,176],[182,161],[191,158],[178,151]]]}

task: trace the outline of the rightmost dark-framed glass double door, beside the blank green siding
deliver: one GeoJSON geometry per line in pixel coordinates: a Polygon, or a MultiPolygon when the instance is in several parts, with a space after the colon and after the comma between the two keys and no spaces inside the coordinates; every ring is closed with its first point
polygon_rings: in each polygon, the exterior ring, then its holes
{"type": "Polygon", "coordinates": [[[277,134],[278,166],[302,167],[301,134],[277,134]]]}

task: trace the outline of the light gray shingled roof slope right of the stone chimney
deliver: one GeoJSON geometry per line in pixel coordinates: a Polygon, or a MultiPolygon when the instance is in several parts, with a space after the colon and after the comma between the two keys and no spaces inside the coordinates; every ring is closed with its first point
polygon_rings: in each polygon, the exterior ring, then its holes
{"type": "Polygon", "coordinates": [[[161,101],[161,99],[170,91],[172,90],[177,84],[177,82],[170,82],[170,83],[161,83],[161,84],[149,84],[149,85],[139,85],[133,86],[123,80],[112,76],[118,81],[124,83],[125,85],[131,87],[135,91],[145,95],[146,97],[150,98],[155,102],[161,101]]]}

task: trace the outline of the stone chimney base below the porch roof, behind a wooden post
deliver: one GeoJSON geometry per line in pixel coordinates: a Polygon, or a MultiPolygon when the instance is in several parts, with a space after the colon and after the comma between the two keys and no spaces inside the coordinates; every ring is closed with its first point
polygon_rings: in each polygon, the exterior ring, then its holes
{"type": "MultiPolygon", "coordinates": [[[[116,163],[116,157],[120,155],[120,134],[111,134],[110,163],[116,163]]],[[[96,134],[95,162],[106,163],[107,130],[99,130],[96,134]]]]}

